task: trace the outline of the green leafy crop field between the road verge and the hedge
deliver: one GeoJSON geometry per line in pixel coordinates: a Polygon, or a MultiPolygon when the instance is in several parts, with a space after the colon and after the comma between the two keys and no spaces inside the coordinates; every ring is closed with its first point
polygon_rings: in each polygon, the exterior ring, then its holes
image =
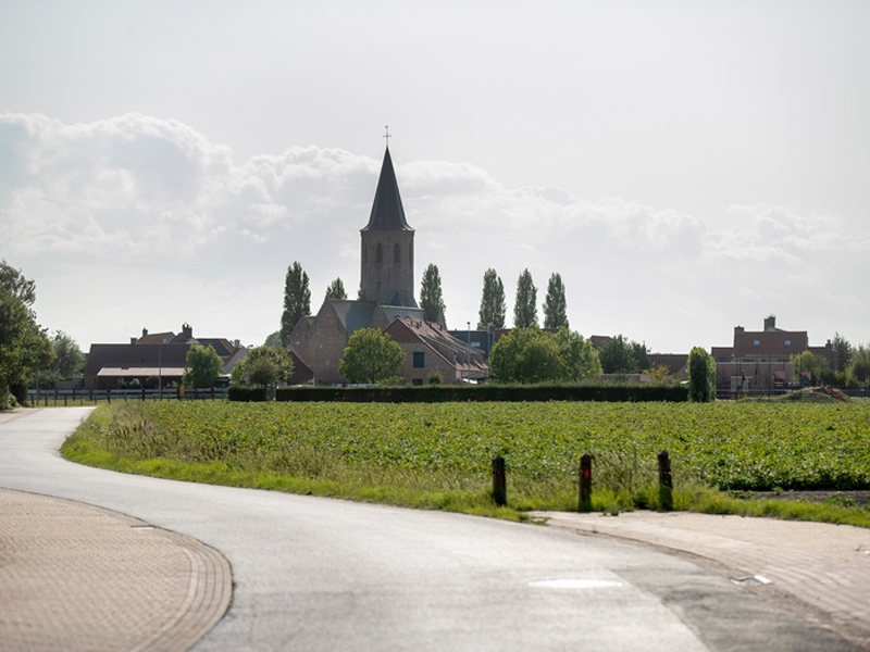
{"type": "MultiPolygon", "coordinates": [[[[494,455],[511,478],[566,482],[583,453],[596,478],[655,472],[725,490],[870,489],[870,405],[732,403],[145,404],[108,448],[134,459],[262,464],[315,475],[349,468],[483,481],[494,455]],[[297,454],[307,451],[300,462],[297,454]],[[268,461],[268,463],[265,462],[268,461]],[[319,462],[320,461],[320,462],[319,462]]],[[[624,478],[623,478],[624,479],[624,478]]]]}

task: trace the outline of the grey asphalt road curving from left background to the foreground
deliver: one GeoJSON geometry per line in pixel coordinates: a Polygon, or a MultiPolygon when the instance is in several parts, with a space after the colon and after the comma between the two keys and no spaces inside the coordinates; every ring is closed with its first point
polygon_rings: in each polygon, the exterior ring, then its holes
{"type": "Polygon", "coordinates": [[[604,537],[71,464],[57,449],[87,414],[0,425],[0,486],[221,551],[233,603],[198,651],[855,649],[688,561],[604,537]]]}

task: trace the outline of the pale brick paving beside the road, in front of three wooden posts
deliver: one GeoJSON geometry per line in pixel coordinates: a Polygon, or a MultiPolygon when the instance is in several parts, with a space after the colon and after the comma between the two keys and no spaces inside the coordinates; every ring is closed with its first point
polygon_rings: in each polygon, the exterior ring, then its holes
{"type": "Polygon", "coordinates": [[[531,516],[700,557],[733,581],[870,650],[870,529],[691,512],[531,516]]]}

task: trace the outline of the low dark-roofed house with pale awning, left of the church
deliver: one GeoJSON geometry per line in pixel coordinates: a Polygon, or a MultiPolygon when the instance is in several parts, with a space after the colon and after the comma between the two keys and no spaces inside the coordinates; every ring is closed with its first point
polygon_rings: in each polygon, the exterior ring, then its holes
{"type": "Polygon", "coordinates": [[[187,352],[194,344],[211,346],[221,359],[221,373],[228,374],[248,355],[239,340],[195,338],[188,324],[182,333],[149,334],[130,338],[128,344],[91,344],[85,363],[85,389],[117,389],[134,379],[147,386],[149,378],[161,387],[181,384],[187,352]]]}

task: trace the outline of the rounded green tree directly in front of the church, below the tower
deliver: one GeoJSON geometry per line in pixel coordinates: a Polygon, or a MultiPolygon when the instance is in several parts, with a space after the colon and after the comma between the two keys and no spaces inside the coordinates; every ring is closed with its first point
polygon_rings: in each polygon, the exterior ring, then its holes
{"type": "Polygon", "coordinates": [[[405,352],[389,335],[377,328],[360,328],[348,340],[338,373],[355,385],[393,383],[403,362],[405,352]]]}

